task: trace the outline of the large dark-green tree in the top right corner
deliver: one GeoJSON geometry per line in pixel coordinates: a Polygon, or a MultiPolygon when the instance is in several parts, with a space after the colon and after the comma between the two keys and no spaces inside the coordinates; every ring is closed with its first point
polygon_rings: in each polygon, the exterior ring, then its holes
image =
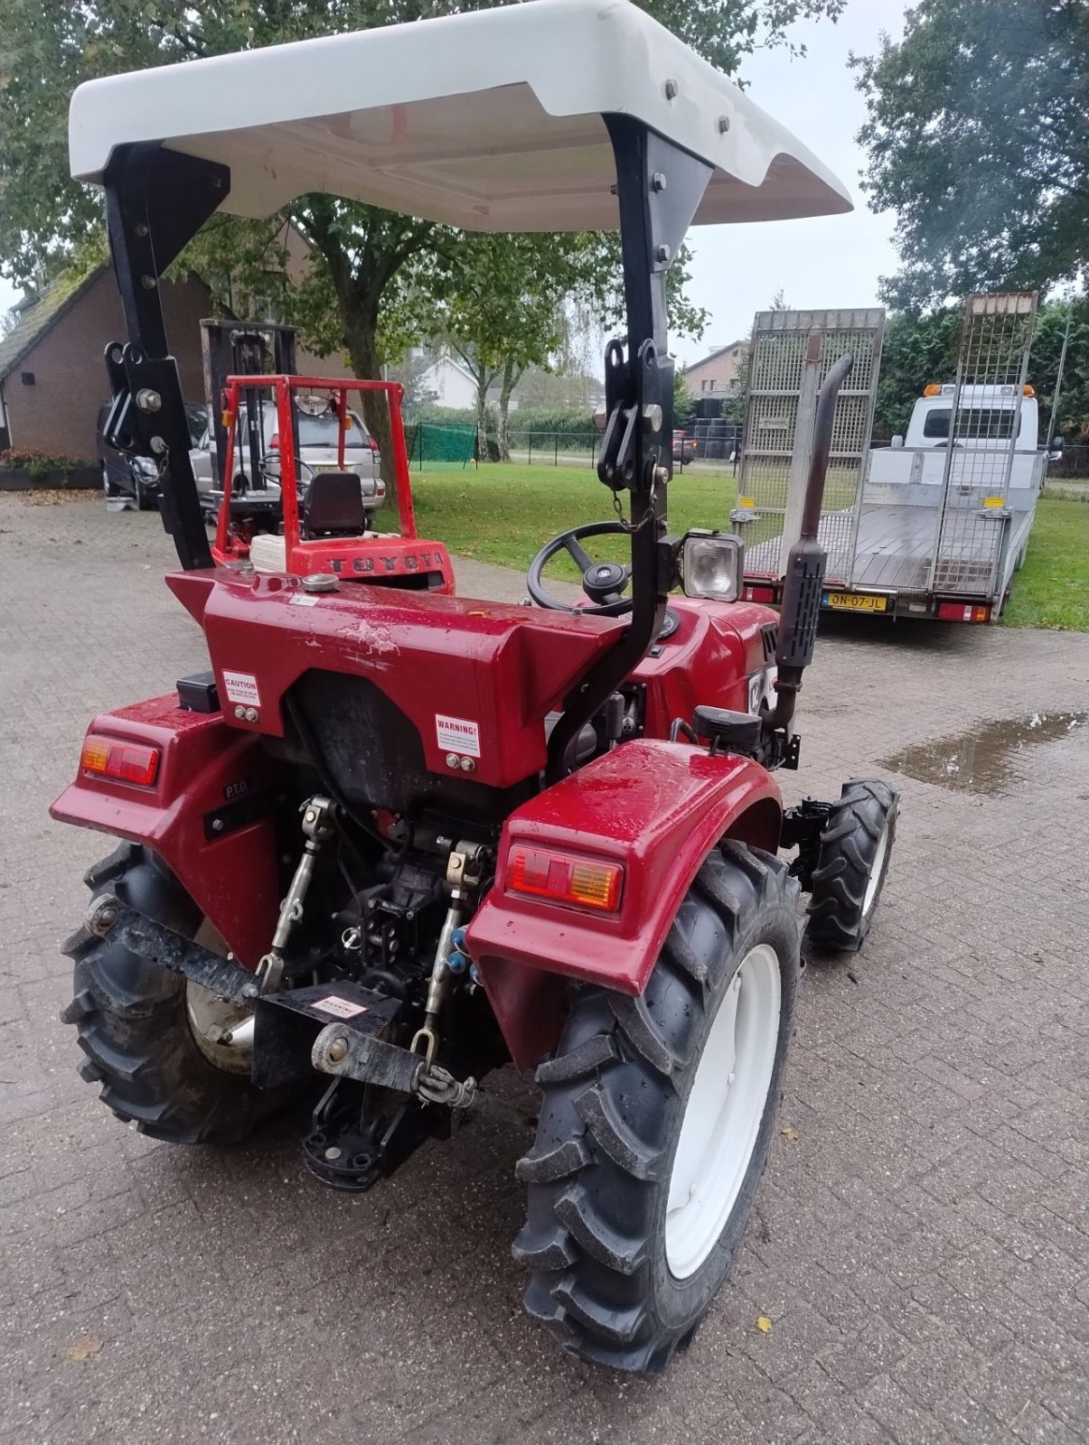
{"type": "Polygon", "coordinates": [[[1088,56],[1085,0],[920,0],[902,40],[852,58],[869,204],[898,215],[894,306],[1085,275],[1088,56]]]}

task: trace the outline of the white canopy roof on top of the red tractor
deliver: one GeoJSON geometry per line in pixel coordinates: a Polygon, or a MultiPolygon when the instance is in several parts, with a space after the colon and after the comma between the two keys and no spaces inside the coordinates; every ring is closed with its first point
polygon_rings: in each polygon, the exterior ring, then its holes
{"type": "Polygon", "coordinates": [[[712,163],[696,223],[850,210],[790,131],[629,0],[532,0],[116,75],[72,97],[72,175],[161,140],[231,169],[224,210],[307,191],[480,231],[615,228],[603,113],[712,163]]]}

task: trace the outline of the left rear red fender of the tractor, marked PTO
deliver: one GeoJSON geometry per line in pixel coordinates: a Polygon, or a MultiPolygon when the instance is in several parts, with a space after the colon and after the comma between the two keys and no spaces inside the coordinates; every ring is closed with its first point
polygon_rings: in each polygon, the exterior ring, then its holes
{"type": "Polygon", "coordinates": [[[59,822],[142,842],[178,877],[239,962],[253,968],[276,926],[276,764],[260,738],[176,694],[104,712],[88,737],[158,750],[149,788],[80,769],[49,809],[59,822]]]}

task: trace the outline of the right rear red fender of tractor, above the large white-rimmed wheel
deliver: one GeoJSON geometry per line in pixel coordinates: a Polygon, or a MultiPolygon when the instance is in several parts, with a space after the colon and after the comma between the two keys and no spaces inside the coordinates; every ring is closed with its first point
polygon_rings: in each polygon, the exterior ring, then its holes
{"type": "Polygon", "coordinates": [[[774,853],[781,819],[780,790],[758,763],[652,738],[625,743],[516,809],[466,945],[518,1068],[555,1048],[567,978],[641,994],[710,850],[738,838],[774,853]],[[616,909],[516,892],[518,845],[619,864],[616,909]]]}

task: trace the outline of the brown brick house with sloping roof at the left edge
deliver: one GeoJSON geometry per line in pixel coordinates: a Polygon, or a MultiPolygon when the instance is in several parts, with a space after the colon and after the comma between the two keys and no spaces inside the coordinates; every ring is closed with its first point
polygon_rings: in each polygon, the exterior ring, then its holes
{"type": "MultiPolygon", "coordinates": [[[[195,276],[163,282],[162,305],[182,392],[202,402],[200,322],[213,311],[211,293],[195,276]]],[[[98,407],[110,399],[103,353],[124,340],[113,273],[100,266],[78,282],[59,276],[16,312],[16,325],[0,337],[0,449],[88,461],[98,407]]]]}

